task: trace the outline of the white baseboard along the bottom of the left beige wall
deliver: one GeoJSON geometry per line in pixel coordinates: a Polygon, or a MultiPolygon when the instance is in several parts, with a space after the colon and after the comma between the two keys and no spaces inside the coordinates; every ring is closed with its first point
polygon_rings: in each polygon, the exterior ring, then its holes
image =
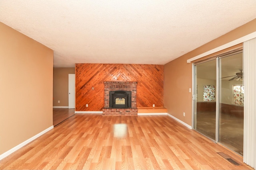
{"type": "Polygon", "coordinates": [[[40,137],[41,135],[43,135],[44,133],[50,131],[51,129],[53,129],[53,126],[48,127],[47,129],[45,129],[44,131],[38,133],[37,135],[31,137],[30,139],[20,143],[19,145],[17,145],[16,147],[4,152],[3,154],[0,155],[0,160],[2,160],[3,158],[5,158],[6,156],[12,154],[13,152],[15,152],[16,150],[24,147],[25,145],[27,145],[28,143],[30,143],[31,141],[35,140],[36,138],[40,137]]]}

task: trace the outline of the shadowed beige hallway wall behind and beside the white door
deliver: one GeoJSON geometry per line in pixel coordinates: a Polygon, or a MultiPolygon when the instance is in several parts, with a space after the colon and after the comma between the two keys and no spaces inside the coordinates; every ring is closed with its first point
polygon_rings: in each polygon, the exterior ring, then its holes
{"type": "Polygon", "coordinates": [[[68,106],[68,74],[75,68],[53,68],[53,106],[68,106]]]}

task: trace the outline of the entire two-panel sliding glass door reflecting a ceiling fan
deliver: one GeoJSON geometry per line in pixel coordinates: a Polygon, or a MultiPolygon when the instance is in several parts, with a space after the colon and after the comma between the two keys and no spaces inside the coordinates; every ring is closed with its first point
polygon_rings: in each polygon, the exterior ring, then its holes
{"type": "Polygon", "coordinates": [[[243,155],[242,51],[194,64],[194,129],[243,155]]]}

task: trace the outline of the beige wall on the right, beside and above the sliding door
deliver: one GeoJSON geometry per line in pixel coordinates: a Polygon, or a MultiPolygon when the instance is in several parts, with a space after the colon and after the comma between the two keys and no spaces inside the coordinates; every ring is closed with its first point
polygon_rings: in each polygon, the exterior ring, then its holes
{"type": "Polygon", "coordinates": [[[192,64],[187,59],[224,45],[230,41],[256,31],[256,19],[222,35],[221,37],[190,51],[164,65],[164,107],[168,113],[188,125],[192,125],[192,64]],[[183,116],[183,112],[186,116],[183,116]]]}

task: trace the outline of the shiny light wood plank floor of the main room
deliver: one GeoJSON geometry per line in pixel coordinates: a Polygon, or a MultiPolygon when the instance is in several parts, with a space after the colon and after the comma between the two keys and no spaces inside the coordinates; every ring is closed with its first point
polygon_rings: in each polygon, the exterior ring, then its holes
{"type": "MultiPolygon", "coordinates": [[[[25,133],[25,132],[24,132],[25,133]]],[[[167,115],[80,114],[0,160],[0,169],[252,169],[167,115]],[[218,152],[240,165],[228,162],[218,152]]]]}

